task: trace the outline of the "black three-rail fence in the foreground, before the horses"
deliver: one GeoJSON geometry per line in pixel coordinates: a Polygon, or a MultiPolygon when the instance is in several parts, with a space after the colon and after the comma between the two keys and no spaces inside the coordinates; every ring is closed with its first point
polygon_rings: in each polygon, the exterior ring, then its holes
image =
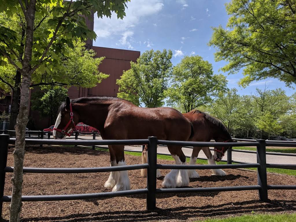
{"type": "MultiPolygon", "coordinates": [[[[238,139],[239,140],[239,139],[238,139]]],[[[104,192],[91,194],[67,194],[67,195],[33,195],[22,196],[22,201],[56,201],[56,200],[81,200],[94,198],[110,198],[118,196],[127,196],[134,194],[146,194],[147,210],[153,210],[156,207],[156,194],[159,193],[192,193],[192,192],[222,192],[222,191],[241,191],[241,190],[258,190],[261,201],[268,200],[268,189],[296,189],[296,185],[268,185],[266,168],[283,168],[296,169],[296,164],[267,164],[266,163],[266,146],[296,147],[295,142],[290,141],[265,141],[258,139],[257,141],[243,140],[247,142],[184,142],[184,141],[165,141],[157,140],[156,137],[148,137],[148,139],[138,140],[40,140],[26,139],[26,144],[47,144],[47,145],[143,145],[148,144],[148,164],[116,166],[116,167],[100,167],[100,168],[30,168],[24,167],[24,173],[95,173],[95,172],[111,172],[121,170],[136,170],[147,168],[147,188],[118,192],[104,192]],[[237,163],[231,160],[231,152],[229,150],[227,160],[228,164],[221,165],[170,165],[157,164],[157,145],[177,145],[186,147],[257,147],[257,163],[237,163]],[[258,185],[251,186],[226,186],[226,187],[199,187],[199,188],[156,188],[156,170],[157,169],[233,169],[233,168],[257,168],[258,185]]],[[[0,135],[0,213],[2,215],[2,202],[10,202],[11,196],[4,196],[5,173],[13,172],[13,167],[7,166],[8,144],[14,144],[15,138],[9,135],[0,135]]],[[[239,151],[241,152],[241,150],[239,151]]],[[[255,151],[254,151],[255,152],[255,151]]]]}

